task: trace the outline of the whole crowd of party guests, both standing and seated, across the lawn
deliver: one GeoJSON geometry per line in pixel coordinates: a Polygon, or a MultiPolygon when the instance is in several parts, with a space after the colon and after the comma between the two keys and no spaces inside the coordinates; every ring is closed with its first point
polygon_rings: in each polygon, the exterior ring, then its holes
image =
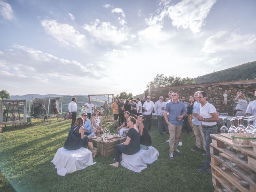
{"type": "MultiPolygon", "coordinates": [[[[256,91],[254,94],[256,96],[256,91]]],[[[178,143],[181,139],[182,126],[185,124],[186,131],[189,132],[191,128],[196,140],[195,146],[191,150],[201,150],[202,154],[206,155],[206,160],[203,161],[204,166],[199,168],[198,172],[211,172],[210,143],[212,139],[210,134],[217,133],[218,112],[214,105],[207,101],[208,95],[206,92],[195,92],[194,96],[189,97],[189,103],[185,101],[185,97],[181,97],[181,100],[179,97],[178,92],[170,91],[169,97],[166,98],[165,102],[163,96],[160,96],[156,103],[150,100],[150,96],[147,96],[143,104],[139,98],[136,98],[136,100],[133,100],[132,105],[129,104],[128,100],[124,104],[123,99],[120,99],[120,102],[115,99],[111,105],[114,114],[114,127],[120,136],[126,136],[126,141],[116,147],[115,163],[110,164],[110,166],[119,166],[122,153],[135,154],[140,150],[140,144],[151,145],[152,141],[148,131],[151,129],[152,113],[155,112],[158,118],[159,133],[166,132],[170,134],[170,139],[167,141],[170,147],[169,158],[174,160],[174,153],[182,154],[178,150],[178,143]],[[118,127],[116,125],[117,120],[118,127]]],[[[237,93],[237,97],[234,100],[237,102],[235,107],[236,115],[256,116],[256,100],[248,104],[241,92],[237,93]]],[[[73,118],[73,116],[76,117],[77,111],[76,98],[72,98],[68,110],[72,115],[72,128],[64,145],[66,149],[74,150],[87,146],[88,139],[86,135],[90,134],[92,129],[95,130],[96,134],[103,133],[102,117],[99,110],[96,110],[92,124],[88,119],[88,113],[82,114],[82,118],[77,120],[73,118]]]]}

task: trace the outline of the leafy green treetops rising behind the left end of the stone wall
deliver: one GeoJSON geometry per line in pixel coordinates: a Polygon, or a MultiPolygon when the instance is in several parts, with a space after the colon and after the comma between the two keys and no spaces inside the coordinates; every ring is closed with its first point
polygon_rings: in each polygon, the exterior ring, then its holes
{"type": "Polygon", "coordinates": [[[181,86],[181,85],[191,85],[196,84],[196,82],[189,77],[181,78],[174,76],[164,76],[164,74],[157,74],[153,81],[149,82],[147,88],[155,88],[155,87],[170,87],[170,86],[181,86]]]}

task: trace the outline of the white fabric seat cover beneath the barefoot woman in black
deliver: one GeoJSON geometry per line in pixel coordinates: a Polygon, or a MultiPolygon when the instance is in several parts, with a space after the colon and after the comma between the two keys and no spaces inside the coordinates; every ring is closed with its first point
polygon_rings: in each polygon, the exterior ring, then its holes
{"type": "Polygon", "coordinates": [[[131,171],[140,173],[142,170],[147,168],[147,164],[151,164],[157,160],[158,156],[158,150],[149,146],[148,150],[140,149],[133,155],[122,154],[122,161],[120,164],[131,171]]]}

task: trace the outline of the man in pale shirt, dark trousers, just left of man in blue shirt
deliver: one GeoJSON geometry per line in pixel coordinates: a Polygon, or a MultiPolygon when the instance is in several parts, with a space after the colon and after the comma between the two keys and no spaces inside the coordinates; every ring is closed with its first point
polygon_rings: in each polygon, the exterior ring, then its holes
{"type": "Polygon", "coordinates": [[[165,131],[165,120],[164,120],[164,108],[166,106],[166,103],[164,102],[164,97],[160,96],[159,100],[155,102],[155,114],[158,119],[158,130],[160,135],[163,134],[163,131],[165,131]]]}

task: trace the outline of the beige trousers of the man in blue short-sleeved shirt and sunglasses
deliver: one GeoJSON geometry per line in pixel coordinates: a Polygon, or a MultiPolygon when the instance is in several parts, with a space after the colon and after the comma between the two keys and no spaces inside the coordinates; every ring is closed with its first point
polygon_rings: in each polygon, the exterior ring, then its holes
{"type": "Polygon", "coordinates": [[[177,149],[178,144],[179,144],[179,137],[180,133],[182,130],[182,125],[181,126],[176,126],[173,124],[168,125],[169,127],[169,133],[170,133],[170,154],[174,152],[174,149],[177,149]]]}

